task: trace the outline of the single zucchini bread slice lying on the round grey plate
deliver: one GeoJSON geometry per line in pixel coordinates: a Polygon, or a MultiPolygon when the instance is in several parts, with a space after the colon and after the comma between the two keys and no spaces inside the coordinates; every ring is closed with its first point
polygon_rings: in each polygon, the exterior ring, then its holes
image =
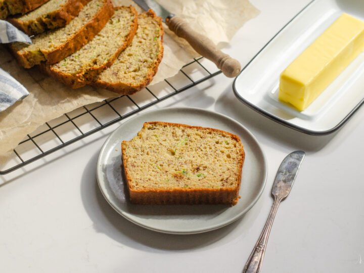
{"type": "Polygon", "coordinates": [[[146,122],[137,136],[121,143],[121,150],[131,203],[238,202],[245,152],[235,134],[146,122]]]}

